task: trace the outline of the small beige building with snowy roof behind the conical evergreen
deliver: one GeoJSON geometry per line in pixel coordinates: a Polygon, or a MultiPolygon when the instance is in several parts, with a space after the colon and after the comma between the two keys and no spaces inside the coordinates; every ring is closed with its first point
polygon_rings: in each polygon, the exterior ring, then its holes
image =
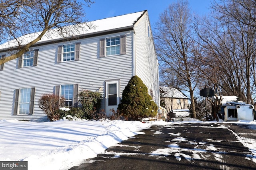
{"type": "Polygon", "coordinates": [[[174,110],[188,109],[188,97],[176,88],[160,87],[160,102],[168,113],[174,110]]]}

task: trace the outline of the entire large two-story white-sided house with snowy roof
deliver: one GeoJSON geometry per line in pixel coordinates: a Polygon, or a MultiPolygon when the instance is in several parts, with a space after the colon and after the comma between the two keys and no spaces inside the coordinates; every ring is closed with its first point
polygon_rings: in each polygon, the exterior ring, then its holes
{"type": "MultiPolygon", "coordinates": [[[[49,31],[28,52],[0,66],[0,119],[45,121],[38,107],[42,95],[64,96],[70,107],[78,104],[82,90],[100,92],[101,108],[109,116],[134,75],[160,107],[158,60],[147,10],[91,24],[94,28],[84,24],[66,37],[49,31]]],[[[5,46],[11,43],[0,46],[0,57],[12,53],[5,46]]]]}

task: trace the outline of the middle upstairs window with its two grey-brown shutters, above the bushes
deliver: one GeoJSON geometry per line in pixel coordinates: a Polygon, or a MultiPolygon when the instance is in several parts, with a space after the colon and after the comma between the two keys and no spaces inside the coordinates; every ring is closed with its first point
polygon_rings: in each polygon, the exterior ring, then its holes
{"type": "Polygon", "coordinates": [[[58,47],[57,63],[80,59],[80,43],[69,43],[58,47]]]}

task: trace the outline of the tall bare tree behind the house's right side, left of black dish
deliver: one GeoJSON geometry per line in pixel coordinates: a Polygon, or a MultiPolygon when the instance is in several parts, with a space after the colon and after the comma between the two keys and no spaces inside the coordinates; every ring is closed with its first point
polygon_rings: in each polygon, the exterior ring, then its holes
{"type": "Polygon", "coordinates": [[[192,14],[188,1],[171,4],[156,23],[155,42],[160,67],[174,76],[190,93],[191,110],[196,117],[194,90],[198,83],[197,47],[193,40],[192,14]]]}

